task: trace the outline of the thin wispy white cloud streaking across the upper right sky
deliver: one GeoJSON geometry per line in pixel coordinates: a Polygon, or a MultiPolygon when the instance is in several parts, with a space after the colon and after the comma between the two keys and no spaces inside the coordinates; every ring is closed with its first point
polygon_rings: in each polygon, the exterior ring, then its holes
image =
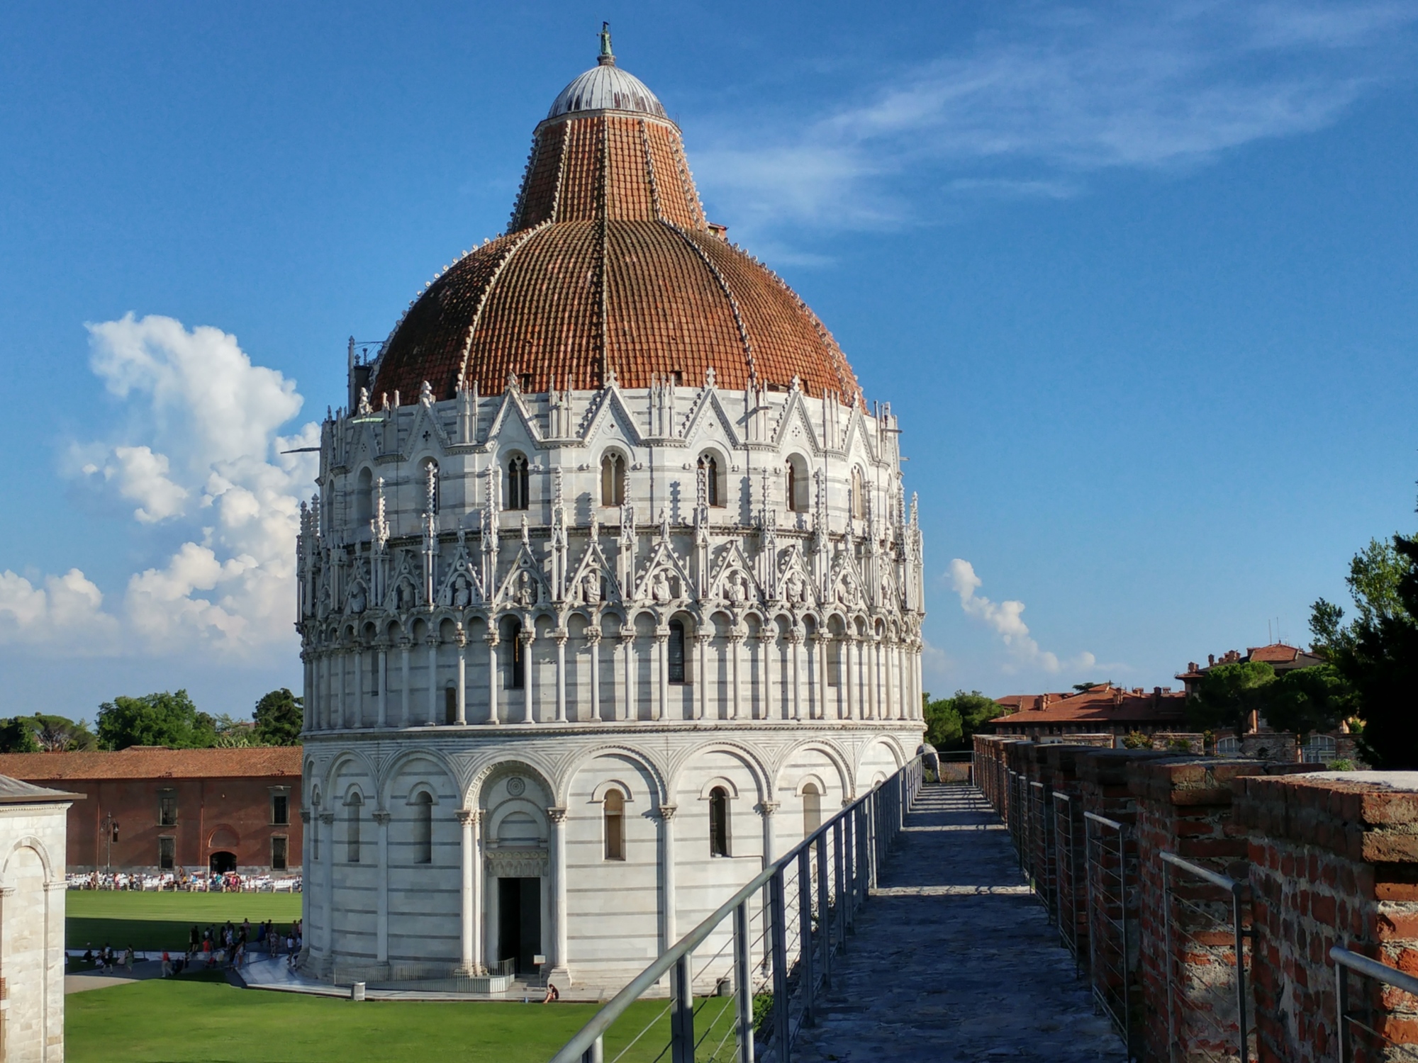
{"type": "Polygon", "coordinates": [[[706,191],[749,230],[919,221],[981,190],[1071,196],[1089,173],[1193,166],[1333,123],[1408,77],[1418,21],[1411,0],[994,10],[960,51],[876,85],[834,71],[835,111],[756,128],[736,111],[695,152],[706,191]]]}

